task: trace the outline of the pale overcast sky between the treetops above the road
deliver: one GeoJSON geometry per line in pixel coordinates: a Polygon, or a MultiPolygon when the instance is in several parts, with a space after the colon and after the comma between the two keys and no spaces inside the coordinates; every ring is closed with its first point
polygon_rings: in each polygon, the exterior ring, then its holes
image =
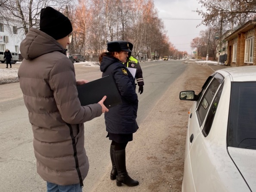
{"type": "Polygon", "coordinates": [[[159,18],[162,19],[165,25],[165,30],[169,40],[176,49],[187,51],[188,54],[192,51],[190,42],[195,37],[199,37],[202,30],[206,30],[206,26],[197,25],[201,20],[186,20],[186,19],[202,19],[197,12],[192,10],[202,9],[197,0],[154,0],[155,6],[159,11],[159,18]],[[166,18],[166,19],[164,19],[166,18]],[[173,19],[177,18],[177,19],[173,19]],[[183,19],[183,20],[181,20],[183,19]]]}

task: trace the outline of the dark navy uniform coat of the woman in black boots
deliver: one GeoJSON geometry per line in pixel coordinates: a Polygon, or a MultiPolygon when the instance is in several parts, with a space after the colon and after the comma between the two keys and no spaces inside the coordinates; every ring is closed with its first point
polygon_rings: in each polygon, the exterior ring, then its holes
{"type": "Polygon", "coordinates": [[[102,77],[113,77],[119,90],[122,104],[105,113],[106,131],[114,134],[130,134],[137,131],[138,97],[135,92],[135,80],[130,71],[114,57],[103,56],[100,63],[102,77]]]}

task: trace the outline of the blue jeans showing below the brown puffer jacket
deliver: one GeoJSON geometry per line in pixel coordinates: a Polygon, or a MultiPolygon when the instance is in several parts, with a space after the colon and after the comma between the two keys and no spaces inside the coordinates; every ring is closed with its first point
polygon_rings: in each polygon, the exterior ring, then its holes
{"type": "Polygon", "coordinates": [[[47,182],[47,192],[82,192],[80,184],[68,186],[60,186],[54,183],[47,182]]]}

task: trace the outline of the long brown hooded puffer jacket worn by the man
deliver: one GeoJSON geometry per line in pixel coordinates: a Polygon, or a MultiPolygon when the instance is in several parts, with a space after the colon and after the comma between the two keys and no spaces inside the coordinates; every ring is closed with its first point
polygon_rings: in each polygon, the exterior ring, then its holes
{"type": "Polygon", "coordinates": [[[18,75],[34,133],[37,173],[51,183],[82,186],[89,169],[83,123],[99,117],[101,105],[81,106],[74,65],[53,37],[31,28],[20,51],[25,59],[18,75]]]}

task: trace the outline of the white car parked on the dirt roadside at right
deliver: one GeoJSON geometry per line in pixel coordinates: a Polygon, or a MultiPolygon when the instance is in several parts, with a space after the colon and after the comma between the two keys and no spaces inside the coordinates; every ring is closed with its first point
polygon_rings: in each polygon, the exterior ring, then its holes
{"type": "Polygon", "coordinates": [[[187,124],[182,192],[256,192],[256,66],[215,71],[187,124]]]}

